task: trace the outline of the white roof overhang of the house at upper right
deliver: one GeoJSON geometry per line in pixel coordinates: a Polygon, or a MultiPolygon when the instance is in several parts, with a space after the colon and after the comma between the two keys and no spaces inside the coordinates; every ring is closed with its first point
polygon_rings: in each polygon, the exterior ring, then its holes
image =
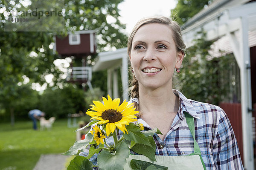
{"type": "Polygon", "coordinates": [[[236,32],[241,27],[241,16],[247,18],[248,30],[253,32],[256,29],[255,9],[256,1],[215,0],[207,9],[203,9],[183,25],[185,29],[182,34],[186,46],[193,45],[193,40],[202,29],[207,32],[207,40],[217,40],[225,36],[227,31],[236,32]]]}

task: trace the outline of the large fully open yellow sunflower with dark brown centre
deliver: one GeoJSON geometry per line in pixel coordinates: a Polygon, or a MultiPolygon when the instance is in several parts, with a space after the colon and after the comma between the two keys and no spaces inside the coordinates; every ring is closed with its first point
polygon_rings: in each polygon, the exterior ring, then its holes
{"type": "Polygon", "coordinates": [[[133,104],[128,104],[128,102],[122,102],[119,105],[120,99],[115,98],[114,100],[108,95],[108,99],[102,97],[104,104],[100,101],[93,101],[90,106],[92,108],[88,109],[87,115],[90,115],[91,119],[99,120],[97,124],[106,124],[107,136],[114,132],[116,127],[122,130],[123,133],[128,133],[125,125],[130,122],[137,121],[135,116],[138,111],[135,111],[133,104]],[[94,111],[91,111],[94,110],[94,111]]]}

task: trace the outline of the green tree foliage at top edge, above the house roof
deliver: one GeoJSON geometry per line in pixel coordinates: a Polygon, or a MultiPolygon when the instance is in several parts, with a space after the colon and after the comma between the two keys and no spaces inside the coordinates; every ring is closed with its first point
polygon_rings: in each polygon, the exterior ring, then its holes
{"type": "Polygon", "coordinates": [[[175,16],[176,21],[182,25],[203,9],[204,6],[211,4],[212,1],[214,0],[178,0],[171,13],[175,16]]]}

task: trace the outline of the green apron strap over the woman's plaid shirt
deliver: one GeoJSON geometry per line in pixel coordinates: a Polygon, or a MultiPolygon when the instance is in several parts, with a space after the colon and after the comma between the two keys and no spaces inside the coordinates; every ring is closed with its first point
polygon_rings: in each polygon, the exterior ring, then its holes
{"type": "Polygon", "coordinates": [[[188,112],[183,112],[183,113],[185,115],[186,123],[188,124],[189,130],[190,130],[190,132],[191,132],[191,134],[194,138],[194,154],[192,154],[192,155],[199,155],[200,156],[200,159],[201,159],[201,162],[203,164],[204,170],[206,170],[203,158],[201,156],[201,150],[198,146],[197,141],[195,140],[195,122],[194,122],[194,118],[192,117],[192,115],[189,115],[188,112]]]}

